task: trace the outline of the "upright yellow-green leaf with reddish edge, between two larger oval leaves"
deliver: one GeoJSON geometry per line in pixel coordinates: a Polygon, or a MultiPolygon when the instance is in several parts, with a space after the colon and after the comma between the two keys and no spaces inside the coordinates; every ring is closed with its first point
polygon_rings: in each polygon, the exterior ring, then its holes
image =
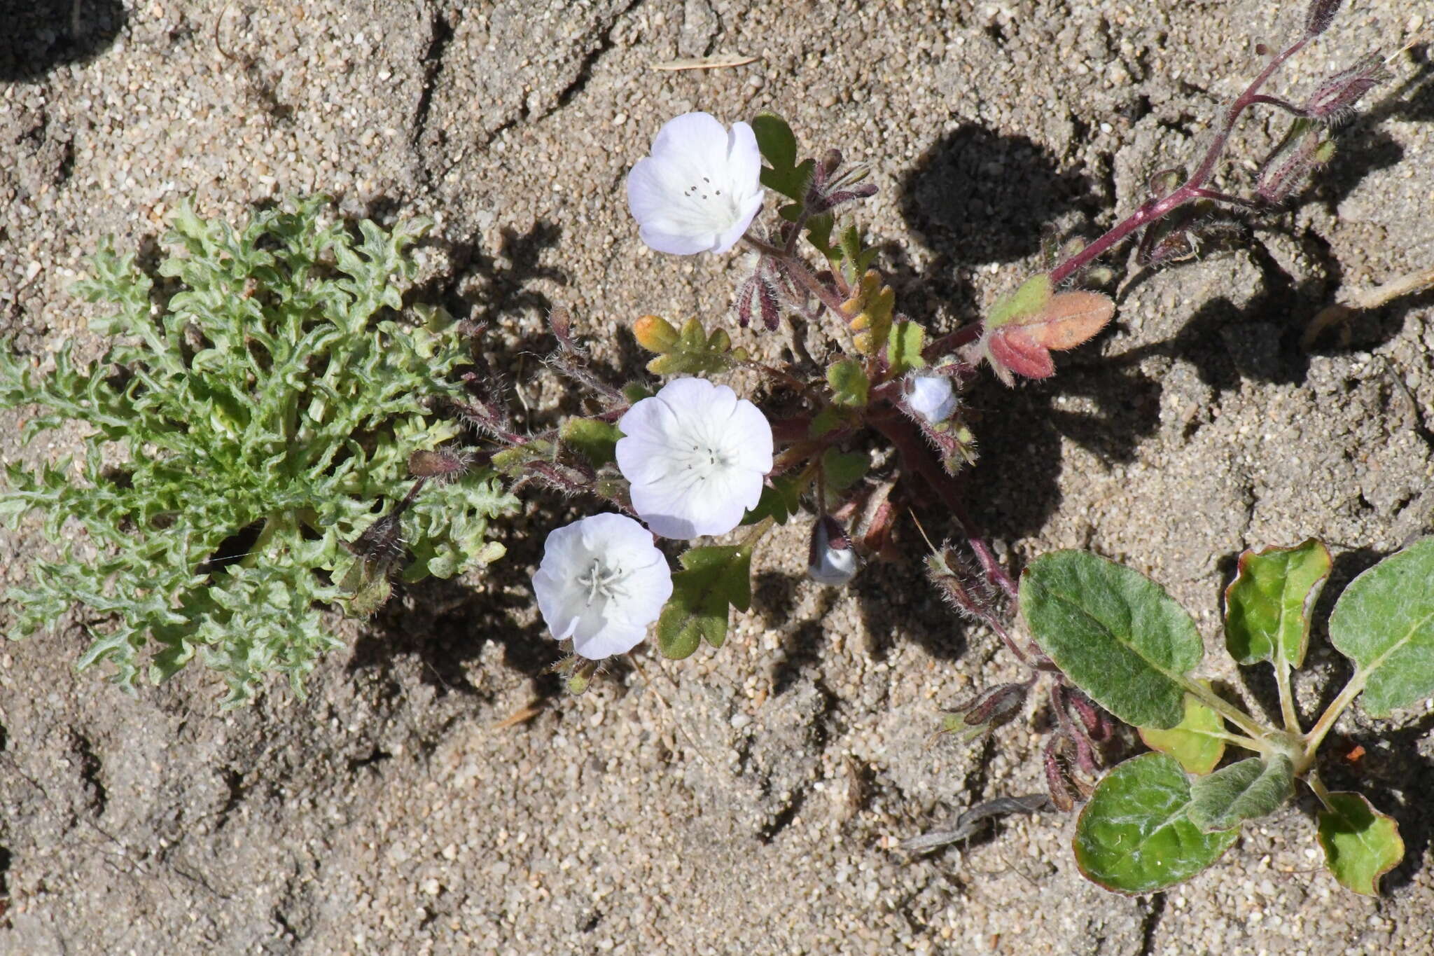
{"type": "Polygon", "coordinates": [[[1240,555],[1239,573],[1225,591],[1230,656],[1240,664],[1304,664],[1309,615],[1328,576],[1329,550],[1314,537],[1240,555]]]}

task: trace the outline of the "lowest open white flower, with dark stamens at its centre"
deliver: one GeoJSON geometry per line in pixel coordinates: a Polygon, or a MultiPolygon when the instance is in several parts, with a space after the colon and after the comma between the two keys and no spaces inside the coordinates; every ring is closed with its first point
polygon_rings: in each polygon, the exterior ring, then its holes
{"type": "Polygon", "coordinates": [[[673,572],[650,530],[627,515],[594,515],[549,532],[533,595],[554,638],[601,661],[642,642],[673,596],[673,572]]]}

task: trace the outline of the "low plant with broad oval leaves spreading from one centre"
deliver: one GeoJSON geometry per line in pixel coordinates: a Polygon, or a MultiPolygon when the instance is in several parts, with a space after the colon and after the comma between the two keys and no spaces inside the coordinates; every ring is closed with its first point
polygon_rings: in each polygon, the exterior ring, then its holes
{"type": "Polygon", "coordinates": [[[1195,621],[1149,578],[1096,555],[1061,550],[1021,575],[1021,612],[1035,644],[1078,688],[1140,728],[1154,751],[1113,768],[1076,824],[1076,861],[1123,893],[1152,893],[1206,869],[1304,780],[1319,798],[1319,844],[1341,884],[1375,894],[1404,856],[1394,820],[1357,793],[1319,781],[1318,751],[1358,697],[1388,717],[1434,694],[1434,537],[1355,578],[1329,615],[1329,642],[1354,674],[1305,731],[1291,671],[1309,646],[1311,611],[1329,575],[1316,540],[1240,555],[1225,592],[1225,646],[1242,665],[1269,664],[1281,727],[1269,727],[1193,674],[1205,655],[1195,621]],[[1226,745],[1253,757],[1219,767],[1226,745]],[[1219,767],[1219,768],[1216,768],[1219,767]]]}

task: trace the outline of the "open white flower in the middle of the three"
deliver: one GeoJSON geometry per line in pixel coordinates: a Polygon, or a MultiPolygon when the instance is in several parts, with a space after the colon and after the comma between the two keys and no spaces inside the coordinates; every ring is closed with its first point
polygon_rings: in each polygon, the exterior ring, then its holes
{"type": "Polygon", "coordinates": [[[663,537],[724,535],[756,507],[771,426],[727,386],[677,378],[618,420],[618,470],[632,509],[663,537]]]}

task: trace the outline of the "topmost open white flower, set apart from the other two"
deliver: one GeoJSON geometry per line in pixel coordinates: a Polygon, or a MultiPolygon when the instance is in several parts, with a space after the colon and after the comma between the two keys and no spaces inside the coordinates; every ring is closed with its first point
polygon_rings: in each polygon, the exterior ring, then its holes
{"type": "Polygon", "coordinates": [[[628,208],[658,252],[726,252],[761,209],[761,153],[747,123],[708,113],[667,120],[628,173],[628,208]]]}

